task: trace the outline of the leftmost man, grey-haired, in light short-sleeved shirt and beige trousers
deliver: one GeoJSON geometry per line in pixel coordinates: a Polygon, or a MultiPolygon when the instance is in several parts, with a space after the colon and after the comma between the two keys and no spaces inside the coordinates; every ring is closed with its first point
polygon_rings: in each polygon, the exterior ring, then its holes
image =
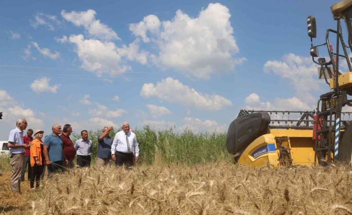
{"type": "Polygon", "coordinates": [[[12,169],[10,190],[21,193],[21,173],[24,163],[24,150],[29,145],[23,142],[23,130],[27,128],[27,121],[24,118],[16,120],[16,128],[8,135],[8,148],[10,148],[10,165],[12,169]]]}

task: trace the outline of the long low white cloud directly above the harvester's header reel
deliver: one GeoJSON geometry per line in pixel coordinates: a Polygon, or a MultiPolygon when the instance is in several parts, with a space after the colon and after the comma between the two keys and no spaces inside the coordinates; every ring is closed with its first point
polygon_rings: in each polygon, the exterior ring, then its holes
{"type": "Polygon", "coordinates": [[[256,93],[251,93],[245,98],[245,109],[248,110],[277,110],[277,111],[313,111],[315,107],[308,105],[297,97],[288,99],[276,98],[273,103],[260,100],[256,93]]]}

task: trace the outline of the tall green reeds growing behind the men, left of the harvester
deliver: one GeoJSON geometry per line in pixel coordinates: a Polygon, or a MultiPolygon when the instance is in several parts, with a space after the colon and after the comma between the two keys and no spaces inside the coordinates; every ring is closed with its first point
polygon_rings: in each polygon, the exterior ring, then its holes
{"type": "MultiPolygon", "coordinates": [[[[110,132],[110,137],[114,138],[116,132],[116,130],[110,132]]],[[[101,130],[88,131],[88,138],[94,145],[93,159],[98,153],[97,137],[101,133],[101,130]]],[[[191,165],[230,159],[226,151],[225,133],[194,133],[189,130],[178,133],[173,129],[155,131],[149,126],[136,129],[135,133],[140,148],[141,164],[184,163],[191,165]]],[[[78,133],[72,135],[74,142],[80,138],[81,135],[78,133]]]]}

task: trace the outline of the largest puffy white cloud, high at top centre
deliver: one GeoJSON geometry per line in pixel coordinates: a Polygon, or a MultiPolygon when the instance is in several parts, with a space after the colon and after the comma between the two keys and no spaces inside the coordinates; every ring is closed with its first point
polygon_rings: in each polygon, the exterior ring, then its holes
{"type": "Polygon", "coordinates": [[[172,20],[160,21],[156,15],[147,15],[129,28],[144,42],[158,46],[158,64],[209,79],[211,74],[233,71],[235,64],[246,60],[233,58],[239,48],[230,16],[226,6],[210,3],[195,18],[177,10],[172,20]]]}

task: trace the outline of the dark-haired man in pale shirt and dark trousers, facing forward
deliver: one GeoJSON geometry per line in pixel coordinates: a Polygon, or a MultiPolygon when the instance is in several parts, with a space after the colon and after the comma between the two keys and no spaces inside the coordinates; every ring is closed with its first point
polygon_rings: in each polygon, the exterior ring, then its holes
{"type": "Polygon", "coordinates": [[[82,138],[76,141],[77,165],[79,167],[90,167],[93,142],[88,139],[88,131],[81,131],[82,138]]]}

